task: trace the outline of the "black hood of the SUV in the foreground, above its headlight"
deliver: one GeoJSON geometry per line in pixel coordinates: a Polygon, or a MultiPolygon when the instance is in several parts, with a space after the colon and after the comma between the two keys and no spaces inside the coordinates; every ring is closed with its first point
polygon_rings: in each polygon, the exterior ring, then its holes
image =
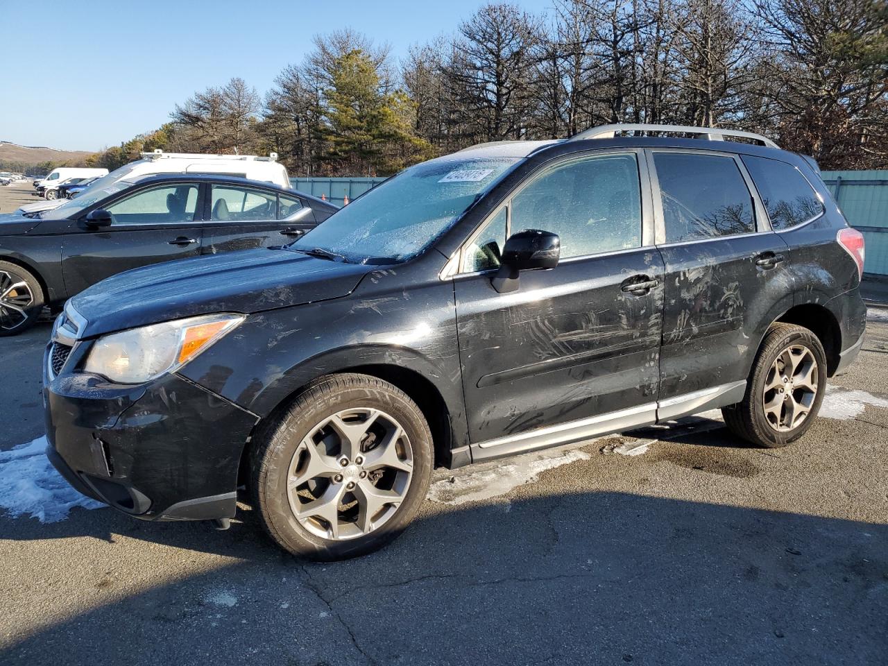
{"type": "Polygon", "coordinates": [[[350,293],[378,266],[260,248],[136,268],[71,298],[81,337],[196,314],[258,313],[350,293]]]}

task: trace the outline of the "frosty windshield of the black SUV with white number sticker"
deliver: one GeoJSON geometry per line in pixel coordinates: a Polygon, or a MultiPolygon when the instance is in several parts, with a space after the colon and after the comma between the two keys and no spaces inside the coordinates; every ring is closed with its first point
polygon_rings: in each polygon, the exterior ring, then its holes
{"type": "Polygon", "coordinates": [[[519,158],[434,160],[403,170],[288,246],[354,264],[416,257],[519,158]],[[332,258],[332,257],[331,257],[332,258]]]}

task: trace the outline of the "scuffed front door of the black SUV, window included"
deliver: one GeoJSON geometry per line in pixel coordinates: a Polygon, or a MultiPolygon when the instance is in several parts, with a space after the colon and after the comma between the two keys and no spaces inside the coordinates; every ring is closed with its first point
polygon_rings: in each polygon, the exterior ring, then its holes
{"type": "Polygon", "coordinates": [[[454,288],[476,459],[654,421],[663,268],[644,168],[634,151],[557,163],[464,247],[454,288]],[[527,228],[559,234],[559,266],[497,293],[503,242],[527,228]]]}

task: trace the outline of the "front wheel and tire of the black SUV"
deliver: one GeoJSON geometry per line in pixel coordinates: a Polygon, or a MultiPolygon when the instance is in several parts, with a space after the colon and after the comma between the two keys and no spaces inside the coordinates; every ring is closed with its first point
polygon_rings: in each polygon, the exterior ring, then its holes
{"type": "Polygon", "coordinates": [[[367,375],[321,377],[258,433],[250,451],[253,506],[272,539],[294,555],[364,555],[416,515],[432,452],[425,417],[405,392],[367,375]]]}

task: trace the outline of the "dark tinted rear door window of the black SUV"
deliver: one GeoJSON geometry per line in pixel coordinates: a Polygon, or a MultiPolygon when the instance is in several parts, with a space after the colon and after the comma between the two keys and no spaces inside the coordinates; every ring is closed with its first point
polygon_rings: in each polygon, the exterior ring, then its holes
{"type": "Polygon", "coordinates": [[[752,197],[732,157],[654,153],[666,242],[751,234],[752,197]]]}

